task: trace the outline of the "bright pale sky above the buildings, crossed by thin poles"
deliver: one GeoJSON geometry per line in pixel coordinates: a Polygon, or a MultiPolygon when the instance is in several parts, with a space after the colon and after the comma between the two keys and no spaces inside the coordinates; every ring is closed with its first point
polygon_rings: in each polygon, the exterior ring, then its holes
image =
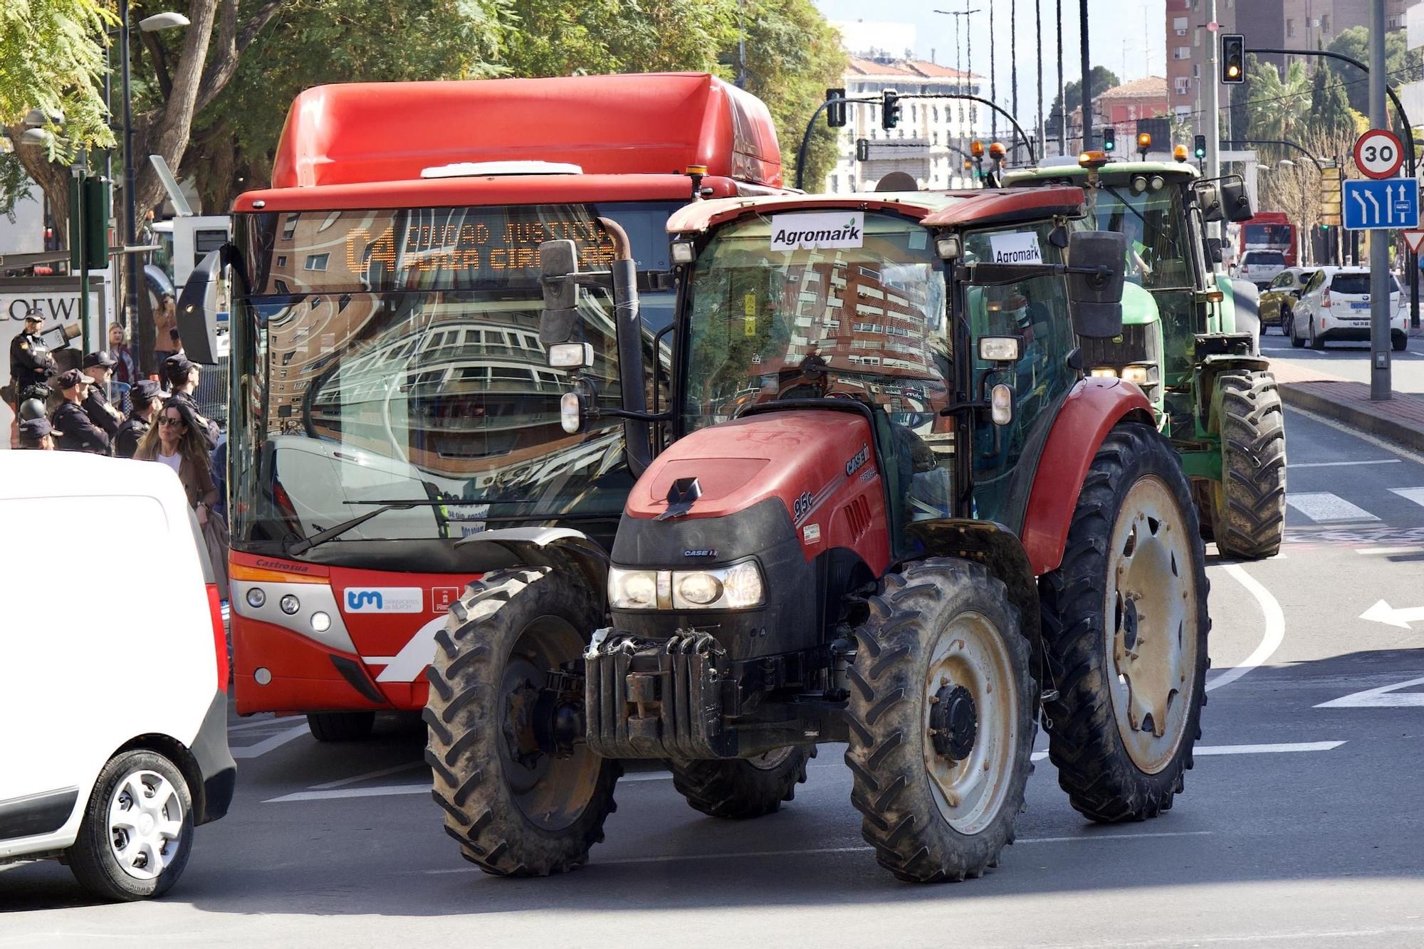
{"type": "MultiPolygon", "coordinates": [[[[1010,105],[1008,56],[1010,10],[1015,9],[1018,33],[1018,118],[1034,121],[1038,98],[1038,63],[1034,50],[1035,0],[815,0],[829,20],[866,20],[913,23],[916,26],[916,56],[934,58],[941,66],[954,66],[956,23],[960,23],[960,44],[965,40],[963,23],[968,23],[968,40],[974,53],[973,70],[994,81],[998,104],[1010,105]],[[994,9],[997,44],[990,44],[990,6],[994,9]],[[943,16],[934,10],[963,11],[968,17],[943,16]],[[977,13],[974,13],[977,11],[977,13]],[[990,48],[995,56],[990,57],[990,48]]],[[[1081,70],[1078,44],[1079,0],[1038,0],[1044,26],[1044,111],[1058,91],[1057,33],[1058,3],[1064,13],[1064,81],[1077,80],[1081,70]]],[[[1124,83],[1143,76],[1166,76],[1166,3],[1165,0],[1087,0],[1088,40],[1092,66],[1106,66],[1124,83]]],[[[960,53],[963,60],[964,53],[960,53]]],[[[988,84],[985,83],[985,90],[988,84]]]]}

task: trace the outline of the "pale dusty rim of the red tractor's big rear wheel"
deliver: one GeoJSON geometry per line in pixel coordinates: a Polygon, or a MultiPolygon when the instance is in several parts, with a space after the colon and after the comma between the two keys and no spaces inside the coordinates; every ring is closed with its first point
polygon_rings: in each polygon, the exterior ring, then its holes
{"type": "Polygon", "coordinates": [[[1114,718],[1132,762],[1158,774],[1182,745],[1198,658],[1192,539],[1165,483],[1132,486],[1111,544],[1104,628],[1114,718]]]}

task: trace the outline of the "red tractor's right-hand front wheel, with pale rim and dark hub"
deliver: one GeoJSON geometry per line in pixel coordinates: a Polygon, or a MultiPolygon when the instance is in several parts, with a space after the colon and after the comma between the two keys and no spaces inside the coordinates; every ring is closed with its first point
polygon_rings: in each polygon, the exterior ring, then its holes
{"type": "Polygon", "coordinates": [[[850,802],[900,879],[981,876],[1014,842],[1038,690],[1004,584],[931,559],[870,597],[849,670],[850,802]]]}

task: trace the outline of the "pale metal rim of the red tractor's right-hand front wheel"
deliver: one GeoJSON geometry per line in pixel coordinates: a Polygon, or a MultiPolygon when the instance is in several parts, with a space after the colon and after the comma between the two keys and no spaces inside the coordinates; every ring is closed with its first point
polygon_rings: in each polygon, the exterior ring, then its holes
{"type": "MultiPolygon", "coordinates": [[[[963,613],[940,630],[926,665],[924,764],[930,792],[944,821],[960,834],[978,834],[998,816],[1014,777],[1014,728],[1020,697],[1014,665],[1004,645],[1014,630],[995,630],[978,613],[963,613]],[[936,705],[947,694],[968,693],[974,710],[973,740],[967,754],[943,754],[931,728],[941,724],[936,705]]],[[[963,754],[963,752],[957,752],[963,754]]]]}

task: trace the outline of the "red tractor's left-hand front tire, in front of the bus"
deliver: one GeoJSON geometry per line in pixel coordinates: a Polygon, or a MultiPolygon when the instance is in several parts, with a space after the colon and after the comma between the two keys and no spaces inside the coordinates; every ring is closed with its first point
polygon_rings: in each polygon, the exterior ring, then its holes
{"type": "Polygon", "coordinates": [[[436,633],[426,761],[446,834],[497,876],[547,876],[604,839],[622,768],[582,742],[540,748],[534,717],[548,673],[572,664],[602,623],[571,571],[497,570],[470,584],[436,633]]]}

